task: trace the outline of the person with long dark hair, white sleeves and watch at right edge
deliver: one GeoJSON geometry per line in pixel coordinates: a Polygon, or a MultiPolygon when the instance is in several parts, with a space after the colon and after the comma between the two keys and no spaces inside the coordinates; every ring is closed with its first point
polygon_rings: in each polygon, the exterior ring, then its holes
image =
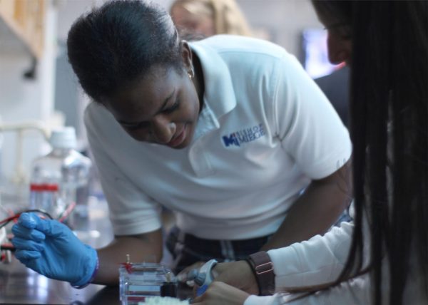
{"type": "Polygon", "coordinates": [[[262,252],[272,278],[217,264],[195,304],[428,304],[428,2],[312,3],[352,71],[355,221],[262,252]]]}

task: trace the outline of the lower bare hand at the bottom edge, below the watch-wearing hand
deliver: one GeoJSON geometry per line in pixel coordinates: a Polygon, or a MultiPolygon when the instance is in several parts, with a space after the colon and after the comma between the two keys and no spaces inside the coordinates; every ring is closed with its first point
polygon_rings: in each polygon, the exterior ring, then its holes
{"type": "MultiPolygon", "coordinates": [[[[228,263],[226,263],[228,264],[228,263]]],[[[245,263],[246,264],[246,263],[245,263]]],[[[221,281],[213,281],[207,291],[193,299],[198,305],[243,305],[250,294],[221,281]]]]}

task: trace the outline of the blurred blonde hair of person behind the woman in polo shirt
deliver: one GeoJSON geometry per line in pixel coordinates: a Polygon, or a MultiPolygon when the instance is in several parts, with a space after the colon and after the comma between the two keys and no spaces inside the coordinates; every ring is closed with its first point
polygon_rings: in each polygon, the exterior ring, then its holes
{"type": "Polygon", "coordinates": [[[213,19],[216,34],[252,36],[250,26],[235,0],[176,0],[170,11],[175,6],[181,6],[195,16],[213,19]]]}

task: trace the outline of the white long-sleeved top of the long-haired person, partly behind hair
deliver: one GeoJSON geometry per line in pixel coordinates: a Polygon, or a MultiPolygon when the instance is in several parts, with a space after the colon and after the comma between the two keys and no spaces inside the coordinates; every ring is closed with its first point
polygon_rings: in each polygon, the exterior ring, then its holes
{"type": "MultiPolygon", "coordinates": [[[[287,288],[325,284],[337,279],[347,260],[352,242],[353,223],[342,222],[324,236],[317,235],[307,242],[292,244],[290,247],[270,250],[267,253],[272,260],[275,272],[273,296],[249,296],[244,305],[360,305],[372,304],[372,284],[369,273],[344,281],[325,291],[317,291],[310,296],[296,299],[298,294],[285,294],[287,288]],[[294,301],[292,301],[294,300],[294,301]]],[[[367,222],[363,222],[365,249],[363,249],[363,267],[370,262],[370,238],[367,222]]],[[[384,259],[382,294],[385,304],[389,298],[389,263],[384,259]]],[[[420,281],[420,268],[416,257],[410,260],[409,278],[404,289],[405,304],[428,304],[426,287],[420,281]]]]}

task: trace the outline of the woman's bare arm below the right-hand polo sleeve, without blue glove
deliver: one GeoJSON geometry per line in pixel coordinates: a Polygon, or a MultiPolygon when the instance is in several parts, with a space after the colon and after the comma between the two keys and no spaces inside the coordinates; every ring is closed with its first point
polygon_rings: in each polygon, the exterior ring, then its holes
{"type": "Polygon", "coordinates": [[[286,247],[327,232],[350,203],[350,185],[348,165],[324,180],[312,182],[262,249],[286,247]]]}

